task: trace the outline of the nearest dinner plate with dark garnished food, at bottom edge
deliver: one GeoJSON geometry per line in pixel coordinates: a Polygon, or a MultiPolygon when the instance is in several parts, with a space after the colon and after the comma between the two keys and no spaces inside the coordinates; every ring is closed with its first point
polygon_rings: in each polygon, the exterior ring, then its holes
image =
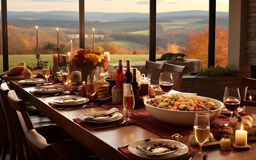
{"type": "Polygon", "coordinates": [[[175,140],[150,138],[131,143],[128,150],[141,158],[158,160],[182,156],[189,148],[175,140]]]}

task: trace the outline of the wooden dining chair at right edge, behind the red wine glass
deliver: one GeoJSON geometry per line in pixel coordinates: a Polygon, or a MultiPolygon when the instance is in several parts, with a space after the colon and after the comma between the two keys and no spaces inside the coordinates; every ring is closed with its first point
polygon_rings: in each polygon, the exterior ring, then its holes
{"type": "Polygon", "coordinates": [[[246,99],[247,98],[246,96],[248,96],[247,95],[248,90],[254,90],[256,94],[256,79],[243,77],[240,85],[243,86],[241,91],[240,107],[243,107],[243,110],[246,110],[247,112],[256,113],[256,101],[250,101],[246,99]]]}

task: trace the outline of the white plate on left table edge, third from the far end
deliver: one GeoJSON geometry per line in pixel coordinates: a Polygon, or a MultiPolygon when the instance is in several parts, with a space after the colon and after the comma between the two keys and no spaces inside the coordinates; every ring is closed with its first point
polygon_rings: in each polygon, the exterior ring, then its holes
{"type": "Polygon", "coordinates": [[[89,101],[88,98],[83,98],[80,96],[62,97],[62,98],[57,98],[57,99],[52,100],[52,102],[58,103],[60,105],[79,105],[79,104],[83,104],[88,101],[89,101]],[[69,100],[69,99],[75,99],[76,101],[72,101],[72,102],[65,101],[65,100],[69,100]]]}

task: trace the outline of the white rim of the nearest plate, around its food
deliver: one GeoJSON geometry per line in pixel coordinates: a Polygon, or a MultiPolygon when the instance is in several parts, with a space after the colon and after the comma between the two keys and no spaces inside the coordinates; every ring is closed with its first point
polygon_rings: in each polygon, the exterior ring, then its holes
{"type": "Polygon", "coordinates": [[[145,146],[146,143],[147,143],[145,140],[139,140],[137,142],[133,142],[132,144],[130,144],[129,147],[128,147],[128,150],[136,156],[151,159],[151,160],[170,159],[170,158],[182,156],[182,155],[186,154],[189,151],[189,148],[186,145],[184,145],[181,142],[175,141],[175,140],[152,138],[152,139],[150,139],[149,142],[150,143],[151,142],[153,142],[153,143],[163,142],[163,143],[171,144],[171,146],[175,145],[176,147],[179,147],[179,149],[175,152],[172,152],[172,153],[162,154],[162,155],[152,155],[151,156],[151,155],[142,153],[141,151],[136,149],[136,147],[141,147],[143,145],[145,146]]]}

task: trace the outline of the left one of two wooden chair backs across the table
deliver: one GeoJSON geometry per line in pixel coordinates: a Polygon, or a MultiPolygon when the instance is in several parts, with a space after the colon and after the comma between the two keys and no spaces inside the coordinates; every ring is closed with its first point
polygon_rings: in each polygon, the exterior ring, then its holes
{"type": "Polygon", "coordinates": [[[146,61],[145,64],[145,75],[146,77],[150,78],[151,83],[158,84],[159,82],[159,76],[162,72],[162,67],[164,64],[156,63],[153,61],[146,61]],[[150,73],[150,76],[148,76],[148,73],[150,73]]]}

